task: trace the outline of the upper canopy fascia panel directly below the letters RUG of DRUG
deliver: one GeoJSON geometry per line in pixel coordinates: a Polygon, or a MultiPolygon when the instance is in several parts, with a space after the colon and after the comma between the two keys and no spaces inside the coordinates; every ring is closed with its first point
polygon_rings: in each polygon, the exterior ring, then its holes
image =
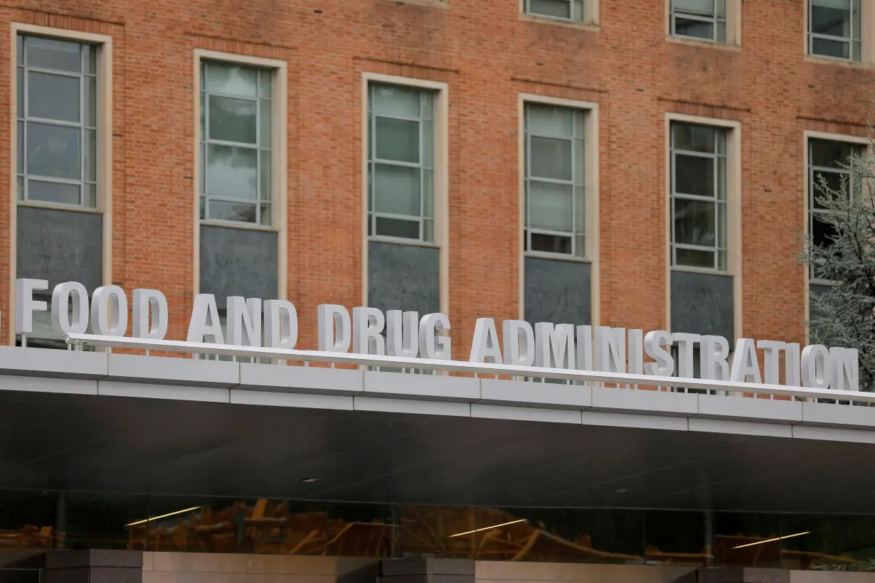
{"type": "Polygon", "coordinates": [[[477,378],[364,371],[365,395],[473,403],[480,398],[477,378]]]}

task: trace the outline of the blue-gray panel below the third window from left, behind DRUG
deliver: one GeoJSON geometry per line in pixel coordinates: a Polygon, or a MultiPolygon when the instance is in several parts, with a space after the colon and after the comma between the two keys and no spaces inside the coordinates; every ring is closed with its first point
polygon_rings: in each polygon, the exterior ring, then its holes
{"type": "Polygon", "coordinates": [[[367,304],[415,311],[440,311],[440,250],[437,247],[367,243],[367,304]]]}

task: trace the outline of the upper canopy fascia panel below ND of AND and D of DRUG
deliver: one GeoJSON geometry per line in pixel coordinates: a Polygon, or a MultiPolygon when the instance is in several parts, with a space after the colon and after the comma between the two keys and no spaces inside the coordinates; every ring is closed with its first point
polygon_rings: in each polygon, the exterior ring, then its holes
{"type": "Polygon", "coordinates": [[[319,366],[240,363],[240,385],[259,391],[355,395],[364,391],[362,371],[319,366]]]}

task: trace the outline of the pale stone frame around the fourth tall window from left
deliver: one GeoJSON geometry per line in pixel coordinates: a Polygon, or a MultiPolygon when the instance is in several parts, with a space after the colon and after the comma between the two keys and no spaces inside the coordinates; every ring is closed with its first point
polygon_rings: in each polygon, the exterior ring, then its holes
{"type": "Polygon", "coordinates": [[[601,316],[600,302],[600,226],[599,226],[599,107],[595,101],[578,101],[550,97],[538,94],[518,94],[517,96],[517,135],[518,137],[518,167],[519,167],[519,197],[518,236],[519,236],[519,317],[525,319],[525,260],[526,257],[542,257],[544,259],[581,261],[590,264],[590,319],[591,325],[598,326],[601,316]],[[584,112],[584,256],[577,257],[567,253],[544,253],[526,251],[526,105],[545,105],[558,108],[577,109],[584,112]]]}

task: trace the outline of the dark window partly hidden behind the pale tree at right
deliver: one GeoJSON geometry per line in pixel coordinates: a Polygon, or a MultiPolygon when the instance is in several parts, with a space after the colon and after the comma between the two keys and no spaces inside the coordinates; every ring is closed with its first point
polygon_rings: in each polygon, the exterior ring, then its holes
{"type": "MultiPolygon", "coordinates": [[[[847,142],[831,140],[809,140],[809,233],[816,246],[830,246],[836,235],[835,229],[824,220],[827,211],[820,200],[826,196],[821,190],[823,180],[830,191],[849,196],[858,188],[851,183],[851,156],[862,156],[863,147],[847,142]]],[[[823,280],[816,268],[812,269],[811,279],[823,280]]]]}

